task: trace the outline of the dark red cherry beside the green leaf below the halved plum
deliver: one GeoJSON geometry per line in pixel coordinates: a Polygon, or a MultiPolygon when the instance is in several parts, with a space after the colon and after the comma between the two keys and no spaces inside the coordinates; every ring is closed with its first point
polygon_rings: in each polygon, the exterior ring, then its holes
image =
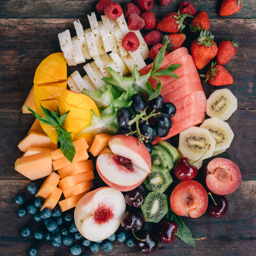
{"type": "Polygon", "coordinates": [[[172,243],[177,231],[177,223],[174,221],[162,221],[157,230],[157,237],[163,243],[172,243]]]}

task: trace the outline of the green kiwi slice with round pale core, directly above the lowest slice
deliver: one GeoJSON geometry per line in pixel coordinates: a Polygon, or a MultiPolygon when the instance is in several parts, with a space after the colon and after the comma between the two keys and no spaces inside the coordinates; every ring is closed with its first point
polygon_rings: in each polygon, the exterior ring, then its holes
{"type": "Polygon", "coordinates": [[[172,183],[169,170],[157,165],[152,165],[151,173],[143,181],[148,191],[165,192],[172,183]]]}

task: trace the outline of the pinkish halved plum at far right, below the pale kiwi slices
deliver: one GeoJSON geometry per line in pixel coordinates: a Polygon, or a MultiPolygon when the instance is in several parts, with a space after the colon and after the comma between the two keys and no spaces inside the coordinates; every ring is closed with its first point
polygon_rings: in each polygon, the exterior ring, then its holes
{"type": "Polygon", "coordinates": [[[211,160],[204,170],[207,189],[216,195],[228,195],[241,184],[239,167],[229,159],[217,157],[211,160]]]}

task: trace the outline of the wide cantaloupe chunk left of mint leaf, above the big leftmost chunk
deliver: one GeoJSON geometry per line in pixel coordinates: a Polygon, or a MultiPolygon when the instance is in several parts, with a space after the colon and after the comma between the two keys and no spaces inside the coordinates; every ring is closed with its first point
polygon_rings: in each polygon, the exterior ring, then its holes
{"type": "Polygon", "coordinates": [[[18,144],[18,148],[23,152],[29,147],[57,149],[57,145],[55,145],[46,134],[36,131],[32,131],[18,144]]]}

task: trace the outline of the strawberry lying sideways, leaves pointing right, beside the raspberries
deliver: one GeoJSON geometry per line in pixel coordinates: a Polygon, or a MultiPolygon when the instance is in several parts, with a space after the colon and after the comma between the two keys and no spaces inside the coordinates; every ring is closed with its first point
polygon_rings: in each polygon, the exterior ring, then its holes
{"type": "Polygon", "coordinates": [[[175,34],[177,32],[181,32],[184,29],[185,25],[183,25],[183,21],[186,17],[193,17],[192,15],[181,15],[179,12],[171,12],[162,20],[160,20],[157,25],[156,29],[158,31],[166,32],[175,34]]]}

